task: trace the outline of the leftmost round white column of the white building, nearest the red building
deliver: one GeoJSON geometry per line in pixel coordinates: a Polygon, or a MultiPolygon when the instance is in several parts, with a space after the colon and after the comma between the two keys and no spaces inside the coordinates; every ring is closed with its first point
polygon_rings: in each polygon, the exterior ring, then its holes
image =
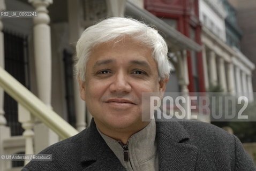
{"type": "Polygon", "coordinates": [[[216,55],[214,51],[210,51],[209,54],[209,76],[210,84],[217,86],[217,67],[216,67],[216,55]]]}

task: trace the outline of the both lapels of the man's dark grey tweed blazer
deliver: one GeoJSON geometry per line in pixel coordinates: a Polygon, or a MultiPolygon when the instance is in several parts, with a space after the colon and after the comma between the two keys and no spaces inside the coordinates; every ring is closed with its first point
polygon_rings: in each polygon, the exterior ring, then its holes
{"type": "MultiPolygon", "coordinates": [[[[94,119],[87,131],[82,134],[81,165],[83,171],[91,170],[125,170],[121,162],[110,150],[96,129],[94,119]]],[[[159,170],[195,169],[197,147],[188,144],[190,136],[177,121],[156,122],[156,138],[159,151],[159,170]]]]}

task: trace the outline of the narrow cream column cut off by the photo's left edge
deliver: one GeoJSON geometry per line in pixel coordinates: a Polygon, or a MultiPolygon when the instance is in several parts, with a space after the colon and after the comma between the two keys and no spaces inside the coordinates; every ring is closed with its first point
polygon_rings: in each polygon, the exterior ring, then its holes
{"type": "MultiPolygon", "coordinates": [[[[4,0],[0,0],[0,10],[5,10],[4,0]]],[[[4,34],[3,22],[0,17],[0,67],[4,68],[4,34]]],[[[4,90],[0,88],[0,127],[6,125],[6,119],[4,117],[4,90]]]]}

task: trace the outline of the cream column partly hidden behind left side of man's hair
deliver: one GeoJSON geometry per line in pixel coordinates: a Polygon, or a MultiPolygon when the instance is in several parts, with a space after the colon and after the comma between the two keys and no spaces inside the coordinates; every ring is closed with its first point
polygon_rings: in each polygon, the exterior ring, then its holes
{"type": "MultiPolygon", "coordinates": [[[[67,1],[69,7],[69,28],[70,28],[70,44],[72,45],[74,55],[73,60],[76,61],[76,44],[79,37],[81,36],[84,28],[81,27],[80,21],[80,1],[69,0],[67,1]]],[[[80,98],[79,84],[77,79],[74,79],[74,103],[76,107],[76,120],[77,130],[82,131],[86,128],[86,105],[85,102],[80,98]]]]}

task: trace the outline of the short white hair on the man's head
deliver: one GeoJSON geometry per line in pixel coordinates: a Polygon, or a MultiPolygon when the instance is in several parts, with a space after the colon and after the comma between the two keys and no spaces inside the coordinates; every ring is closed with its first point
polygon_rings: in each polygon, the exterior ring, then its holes
{"type": "Polygon", "coordinates": [[[169,77],[171,65],[167,57],[167,44],[157,30],[135,19],[113,17],[88,27],[79,38],[76,46],[78,58],[76,69],[80,80],[85,81],[86,63],[95,45],[116,38],[122,40],[125,36],[152,49],[152,57],[157,63],[159,79],[169,77]]]}

